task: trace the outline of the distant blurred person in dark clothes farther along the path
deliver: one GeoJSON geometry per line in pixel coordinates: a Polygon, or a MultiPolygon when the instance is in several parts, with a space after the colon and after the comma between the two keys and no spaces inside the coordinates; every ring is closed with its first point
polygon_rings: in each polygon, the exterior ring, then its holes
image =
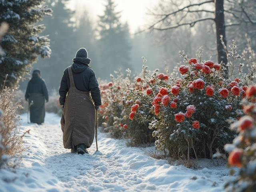
{"type": "Polygon", "coordinates": [[[45,116],[45,100],[48,102],[48,90],[44,79],[40,77],[40,70],[32,73],[32,79],[28,82],[25,99],[30,110],[30,122],[42,124],[45,116]]]}

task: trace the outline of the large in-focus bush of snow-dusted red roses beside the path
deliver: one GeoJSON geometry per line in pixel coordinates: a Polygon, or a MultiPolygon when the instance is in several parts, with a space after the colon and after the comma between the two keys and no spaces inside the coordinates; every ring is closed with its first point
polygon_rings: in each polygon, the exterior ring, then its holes
{"type": "Polygon", "coordinates": [[[202,50],[197,58],[180,55],[182,78],[160,86],[152,101],[156,148],[173,158],[186,156],[188,162],[190,157],[213,158],[216,149],[223,150],[236,136],[228,120],[243,115],[240,103],[247,81],[233,76],[226,80],[222,64],[202,60],[202,50]]]}

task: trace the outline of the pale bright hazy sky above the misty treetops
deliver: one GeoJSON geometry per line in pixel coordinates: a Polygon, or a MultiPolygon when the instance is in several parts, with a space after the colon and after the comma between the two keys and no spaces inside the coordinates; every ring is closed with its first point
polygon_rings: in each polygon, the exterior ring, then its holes
{"type": "MultiPolygon", "coordinates": [[[[122,11],[121,22],[127,21],[130,32],[134,33],[138,27],[148,23],[147,9],[151,9],[158,0],[114,0],[114,2],[117,5],[116,11],[122,11]]],[[[92,19],[97,20],[97,15],[103,15],[106,4],[106,0],[72,0],[70,8],[86,9],[92,19]]]]}

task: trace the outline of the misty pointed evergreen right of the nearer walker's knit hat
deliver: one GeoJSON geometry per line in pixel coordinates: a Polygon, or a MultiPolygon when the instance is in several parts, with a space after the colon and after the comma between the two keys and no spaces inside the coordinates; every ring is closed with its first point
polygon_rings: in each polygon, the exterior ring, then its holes
{"type": "Polygon", "coordinates": [[[107,0],[108,4],[100,21],[98,46],[100,50],[100,71],[101,78],[109,78],[114,70],[123,71],[132,68],[130,65],[130,33],[128,24],[120,22],[120,13],[116,12],[113,0],[107,0]]]}

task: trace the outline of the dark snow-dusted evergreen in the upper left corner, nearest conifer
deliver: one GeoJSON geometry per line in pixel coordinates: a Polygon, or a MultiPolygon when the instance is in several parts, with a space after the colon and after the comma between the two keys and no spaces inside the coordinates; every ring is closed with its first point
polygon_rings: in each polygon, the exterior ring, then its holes
{"type": "Polygon", "coordinates": [[[44,15],[50,15],[52,12],[42,6],[42,3],[44,0],[0,1],[0,23],[9,24],[9,30],[1,42],[5,55],[0,57],[0,90],[3,85],[13,88],[30,72],[38,55],[42,58],[50,56],[48,38],[38,36],[44,26],[35,25],[44,15]]]}

